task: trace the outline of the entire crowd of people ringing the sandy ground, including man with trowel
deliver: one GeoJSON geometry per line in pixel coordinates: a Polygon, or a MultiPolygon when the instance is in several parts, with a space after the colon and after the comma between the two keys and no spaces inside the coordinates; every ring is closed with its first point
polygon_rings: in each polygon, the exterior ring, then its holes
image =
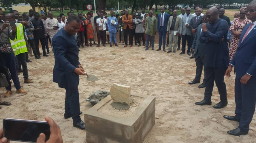
{"type": "MultiPolygon", "coordinates": [[[[110,11],[110,17],[104,10],[97,11],[95,17],[93,11],[87,14],[78,13],[77,16],[70,11],[67,17],[60,14],[57,19],[53,17],[51,11],[48,12],[48,18],[45,13],[41,13],[40,19],[39,13],[33,10],[22,15],[12,10],[4,16],[0,10],[0,64],[9,69],[16,92],[27,94],[20,86],[18,73],[23,73],[25,83],[33,82],[29,79],[26,62],[32,62],[29,56],[33,55],[36,59],[41,59],[39,41],[43,56],[47,57],[50,52],[49,41],[55,56],[53,81],[66,90],[64,118],[72,117],[73,126],[85,129],[84,122],[79,116],[81,112],[78,84],[79,75],[86,73],[78,60],[79,48],[84,48],[84,45],[99,47],[101,44],[105,47],[107,43],[110,47],[118,47],[118,31],[119,43],[124,47],[133,47],[134,42],[138,47],[145,46],[145,50],[154,50],[154,36],[159,34],[157,51],[161,50],[163,45],[165,52],[165,48],[169,47],[167,53],[175,53],[176,48],[180,50],[182,39],[180,54],[185,53],[187,44],[186,53],[189,56],[192,54],[190,58],[195,58],[196,64],[195,79],[188,84],[200,83],[204,67],[204,79],[199,85],[199,88],[205,87],[204,99],[196,102],[196,105],[212,104],[211,96],[215,82],[221,101],[213,108],[227,106],[224,76],[230,77],[232,67],[236,67],[236,115],[224,118],[239,121],[239,127],[230,130],[228,134],[246,135],[256,104],[256,41],[253,39],[256,36],[256,0],[247,7],[242,7],[240,13],[234,15],[235,19],[232,22],[224,15],[225,9],[220,5],[209,8],[206,14],[203,14],[199,6],[195,8],[194,14],[191,14],[189,7],[182,8],[180,15],[177,15],[177,10],[173,10],[172,13],[165,13],[164,10],[160,8],[161,13],[158,16],[154,14],[154,8],[148,13],[142,8],[141,11],[133,11],[132,15],[129,14],[129,10],[123,10],[119,17],[115,17],[116,11],[110,11]],[[10,26],[6,22],[16,23],[10,26]],[[63,73],[66,70],[67,73],[63,73]],[[66,78],[65,74],[69,73],[76,74],[66,78]]],[[[4,97],[12,94],[10,80],[8,84],[4,97]]],[[[9,102],[1,101],[1,98],[0,104],[10,105],[9,102]]]]}

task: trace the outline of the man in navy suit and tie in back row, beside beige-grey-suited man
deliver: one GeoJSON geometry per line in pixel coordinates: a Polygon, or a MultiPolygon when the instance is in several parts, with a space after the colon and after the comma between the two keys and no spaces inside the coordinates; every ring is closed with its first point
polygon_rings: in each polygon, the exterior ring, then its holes
{"type": "Polygon", "coordinates": [[[165,50],[165,42],[166,42],[166,33],[167,33],[167,25],[170,18],[170,14],[164,12],[164,7],[161,7],[161,14],[158,14],[158,21],[157,21],[157,31],[159,32],[159,48],[161,50],[162,40],[163,40],[163,51],[165,50]]]}

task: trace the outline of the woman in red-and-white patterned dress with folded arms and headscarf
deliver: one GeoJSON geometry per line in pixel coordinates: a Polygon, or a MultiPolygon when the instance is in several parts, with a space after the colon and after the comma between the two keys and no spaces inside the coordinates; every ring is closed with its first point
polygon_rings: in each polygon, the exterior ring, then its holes
{"type": "Polygon", "coordinates": [[[236,49],[239,44],[241,32],[242,32],[244,26],[247,25],[248,23],[250,23],[250,20],[245,18],[245,15],[246,15],[246,13],[244,12],[245,10],[246,10],[246,7],[242,7],[240,9],[240,17],[235,18],[232,25],[230,26],[230,31],[233,34],[233,37],[231,39],[230,49],[229,49],[230,61],[233,59],[233,56],[236,53],[236,49]]]}

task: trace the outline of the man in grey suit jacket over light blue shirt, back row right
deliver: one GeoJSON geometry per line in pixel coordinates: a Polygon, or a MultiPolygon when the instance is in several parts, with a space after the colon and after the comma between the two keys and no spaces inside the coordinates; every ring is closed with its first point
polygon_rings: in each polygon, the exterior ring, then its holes
{"type": "Polygon", "coordinates": [[[182,35],[182,48],[181,48],[181,54],[185,53],[186,49],[186,42],[188,42],[188,50],[187,54],[190,56],[190,48],[192,45],[192,31],[189,28],[189,23],[192,17],[194,17],[192,14],[190,14],[191,8],[186,8],[186,15],[182,17],[181,25],[180,25],[180,36],[182,35]]]}

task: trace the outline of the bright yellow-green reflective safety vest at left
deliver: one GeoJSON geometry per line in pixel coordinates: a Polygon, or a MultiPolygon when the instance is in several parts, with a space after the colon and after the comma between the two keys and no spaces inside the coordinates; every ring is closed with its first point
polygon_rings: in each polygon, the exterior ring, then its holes
{"type": "Polygon", "coordinates": [[[16,24],[17,24],[17,37],[14,40],[10,39],[15,56],[20,53],[28,52],[28,49],[26,47],[26,41],[24,38],[23,25],[21,23],[16,23],[16,24]]]}

